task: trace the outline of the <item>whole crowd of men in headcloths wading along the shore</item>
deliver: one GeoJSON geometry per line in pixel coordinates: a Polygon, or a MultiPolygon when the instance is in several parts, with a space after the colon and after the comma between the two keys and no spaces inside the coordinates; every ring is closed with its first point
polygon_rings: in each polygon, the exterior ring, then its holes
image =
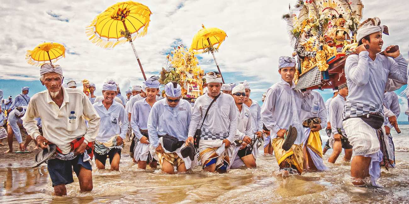
{"type": "Polygon", "coordinates": [[[55,145],[47,169],[56,195],[66,195],[72,170],[81,191],[91,191],[93,158],[98,169],[109,159],[110,169],[118,171],[127,140],[140,169],[159,164],[169,174],[197,165],[219,173],[257,168],[263,142],[264,153],[274,153],[285,175],[326,171],[323,154],[332,148],[328,162],[335,163],[344,149],[345,161],[353,157],[352,183],[365,186],[370,177],[370,184],[379,186],[381,166],[396,165],[391,129],[398,128],[400,108],[396,93],[388,90],[407,84],[408,66],[399,50],[381,50],[382,28],[368,24],[357,31],[360,45],[346,59],[347,83],[326,102],[318,91],[294,90],[296,60],[287,56],[279,58],[281,77],[263,94],[262,106],[250,98],[247,81],[223,84],[212,71],[203,77],[203,95],[193,102],[182,98],[178,83],[160,84],[157,76],[132,86],[126,97],[113,80],[103,84],[98,97],[94,91],[100,87],[90,83],[87,96],[75,89],[75,81],[63,83],[61,66],[43,64],[40,81],[47,90],[30,98],[23,87],[14,101],[11,96],[4,101],[7,152],[13,135],[20,151],[31,139],[44,151],[55,145]],[[329,137],[324,149],[321,129],[329,137]]]}

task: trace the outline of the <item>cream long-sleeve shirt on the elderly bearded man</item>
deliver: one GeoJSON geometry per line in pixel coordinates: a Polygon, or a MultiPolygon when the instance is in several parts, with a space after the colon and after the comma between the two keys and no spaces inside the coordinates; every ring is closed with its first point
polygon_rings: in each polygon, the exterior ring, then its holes
{"type": "Polygon", "coordinates": [[[38,131],[35,118],[41,118],[43,136],[56,144],[63,154],[70,153],[70,142],[84,136],[84,142],[93,142],[97,137],[100,118],[87,95],[79,89],[61,88],[64,95],[61,107],[51,99],[47,90],[36,93],[22,118],[27,133],[36,139],[38,131]],[[69,119],[75,111],[76,119],[69,119]],[[85,124],[88,120],[88,127],[85,124]]]}

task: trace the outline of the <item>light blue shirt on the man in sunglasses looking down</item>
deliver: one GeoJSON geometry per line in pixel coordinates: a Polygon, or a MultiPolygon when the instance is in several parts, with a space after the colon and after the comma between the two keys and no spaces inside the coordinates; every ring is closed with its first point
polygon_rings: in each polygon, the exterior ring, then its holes
{"type": "Polygon", "coordinates": [[[174,108],[169,106],[166,99],[153,104],[148,119],[149,141],[153,147],[159,146],[158,135],[171,135],[179,141],[186,141],[192,106],[187,100],[181,99],[174,108]]]}

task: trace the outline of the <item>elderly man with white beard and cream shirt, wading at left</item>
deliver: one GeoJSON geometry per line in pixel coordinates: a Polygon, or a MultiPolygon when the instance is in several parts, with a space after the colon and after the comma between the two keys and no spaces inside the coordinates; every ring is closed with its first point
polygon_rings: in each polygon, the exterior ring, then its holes
{"type": "Polygon", "coordinates": [[[23,125],[40,148],[47,149],[49,144],[57,146],[56,154],[47,162],[56,195],[67,195],[65,185],[74,182],[73,170],[81,191],[91,191],[92,142],[97,136],[100,118],[85,93],[62,87],[63,70],[59,65],[43,64],[40,76],[47,90],[33,96],[23,125]],[[38,131],[35,118],[43,123],[43,135],[38,131]]]}

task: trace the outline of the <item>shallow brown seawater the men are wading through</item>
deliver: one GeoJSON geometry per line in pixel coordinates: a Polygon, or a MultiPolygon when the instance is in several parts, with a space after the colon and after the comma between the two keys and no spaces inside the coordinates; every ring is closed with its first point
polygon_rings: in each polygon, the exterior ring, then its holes
{"type": "MultiPolygon", "coordinates": [[[[120,171],[96,170],[94,189],[80,193],[74,183],[67,196],[53,195],[47,166],[32,169],[27,164],[0,165],[1,203],[407,203],[409,202],[409,125],[394,133],[396,168],[382,170],[379,184],[384,188],[357,188],[350,182],[350,163],[341,155],[329,171],[282,177],[274,155],[257,158],[257,169],[234,169],[225,174],[207,173],[197,166],[180,175],[160,170],[142,171],[128,155],[122,155],[120,171]]],[[[325,143],[326,135],[322,136],[325,143]]],[[[109,162],[107,162],[109,163],[109,162]]],[[[109,168],[108,168],[109,169],[109,168]]]]}

